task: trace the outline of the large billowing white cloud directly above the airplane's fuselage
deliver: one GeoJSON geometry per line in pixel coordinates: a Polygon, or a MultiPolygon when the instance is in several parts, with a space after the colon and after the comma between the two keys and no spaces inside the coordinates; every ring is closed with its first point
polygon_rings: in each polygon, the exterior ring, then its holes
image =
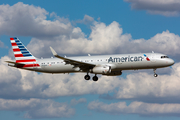
{"type": "Polygon", "coordinates": [[[59,36],[54,39],[33,38],[27,46],[37,57],[50,57],[52,46],[58,54],[119,54],[160,52],[180,59],[180,37],[168,30],[157,33],[152,38],[132,39],[130,34],[123,34],[119,23],[106,25],[94,22],[91,34],[86,38],[80,28],[74,28],[69,36],[59,36]],[[53,42],[52,42],[53,41],[53,42]],[[38,51],[38,52],[37,52],[38,51]],[[172,52],[173,51],[173,52],[172,52]]]}

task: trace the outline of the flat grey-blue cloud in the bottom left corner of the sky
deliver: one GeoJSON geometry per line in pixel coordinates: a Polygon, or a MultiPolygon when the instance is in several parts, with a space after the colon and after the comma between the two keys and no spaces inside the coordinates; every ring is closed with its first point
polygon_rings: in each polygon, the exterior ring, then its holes
{"type": "Polygon", "coordinates": [[[1,111],[25,111],[25,118],[62,118],[75,114],[66,103],[31,98],[29,100],[0,99],[1,111]]]}

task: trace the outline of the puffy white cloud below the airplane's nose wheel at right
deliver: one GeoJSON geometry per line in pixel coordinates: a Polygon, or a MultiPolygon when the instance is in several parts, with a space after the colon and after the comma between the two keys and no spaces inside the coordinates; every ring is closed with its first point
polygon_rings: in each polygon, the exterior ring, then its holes
{"type": "Polygon", "coordinates": [[[169,72],[170,75],[159,75],[158,78],[141,72],[127,75],[115,97],[144,102],[179,103],[180,63],[172,66],[169,72]]]}

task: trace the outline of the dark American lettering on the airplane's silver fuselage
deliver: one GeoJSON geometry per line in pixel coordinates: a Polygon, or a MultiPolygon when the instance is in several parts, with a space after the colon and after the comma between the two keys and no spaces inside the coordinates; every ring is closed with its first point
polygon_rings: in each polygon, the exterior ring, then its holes
{"type": "Polygon", "coordinates": [[[136,62],[136,61],[142,61],[143,57],[142,56],[135,56],[135,57],[131,57],[131,56],[128,56],[128,57],[110,57],[108,59],[108,63],[109,62],[136,62]]]}

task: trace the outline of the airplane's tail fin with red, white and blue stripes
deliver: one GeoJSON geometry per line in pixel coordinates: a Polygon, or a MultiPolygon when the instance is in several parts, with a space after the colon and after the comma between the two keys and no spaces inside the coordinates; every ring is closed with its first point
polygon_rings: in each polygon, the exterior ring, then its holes
{"type": "Polygon", "coordinates": [[[36,62],[36,58],[22,44],[18,38],[10,38],[16,63],[32,64],[36,62]]]}

